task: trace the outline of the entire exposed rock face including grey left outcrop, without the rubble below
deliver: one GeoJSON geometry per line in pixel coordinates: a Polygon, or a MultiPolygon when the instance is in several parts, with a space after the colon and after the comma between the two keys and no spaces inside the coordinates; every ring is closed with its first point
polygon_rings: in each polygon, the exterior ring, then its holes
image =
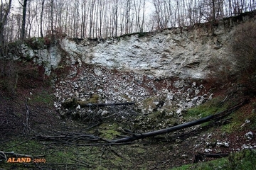
{"type": "MultiPolygon", "coordinates": [[[[245,22],[255,22],[255,19],[242,16],[242,23],[245,22]]],[[[152,77],[205,79],[214,72],[235,69],[230,49],[235,25],[239,23],[241,21],[236,18],[225,18],[218,21],[218,26],[198,23],[186,28],[134,33],[106,40],[63,38],[51,47],[36,50],[23,44],[21,54],[43,64],[46,74],[58,67],[60,60],[68,58],[70,64],[97,64],[152,77]]],[[[39,42],[38,38],[33,41],[39,42]]]]}

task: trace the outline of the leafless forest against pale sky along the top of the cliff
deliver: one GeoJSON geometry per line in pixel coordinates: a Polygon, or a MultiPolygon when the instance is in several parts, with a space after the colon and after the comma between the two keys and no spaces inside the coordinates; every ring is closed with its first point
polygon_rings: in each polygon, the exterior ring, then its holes
{"type": "Polygon", "coordinates": [[[0,40],[107,38],[215,22],[255,10],[255,0],[1,0],[0,40]]]}

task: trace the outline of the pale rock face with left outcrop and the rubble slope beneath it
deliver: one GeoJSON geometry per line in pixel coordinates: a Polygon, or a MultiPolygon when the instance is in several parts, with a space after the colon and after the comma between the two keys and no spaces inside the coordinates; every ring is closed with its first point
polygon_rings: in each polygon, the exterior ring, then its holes
{"type": "MultiPolygon", "coordinates": [[[[61,108],[63,101],[76,98],[98,103],[134,101],[142,113],[165,110],[181,116],[187,108],[212,98],[202,79],[235,70],[230,55],[234,30],[223,21],[213,28],[201,24],[107,40],[64,38],[43,50],[23,45],[22,54],[43,64],[46,74],[64,63],[61,68],[68,70],[67,76],[55,84],[55,107],[62,114],[67,113],[61,108]]],[[[79,106],[73,111],[87,112],[90,109],[79,106]]]]}

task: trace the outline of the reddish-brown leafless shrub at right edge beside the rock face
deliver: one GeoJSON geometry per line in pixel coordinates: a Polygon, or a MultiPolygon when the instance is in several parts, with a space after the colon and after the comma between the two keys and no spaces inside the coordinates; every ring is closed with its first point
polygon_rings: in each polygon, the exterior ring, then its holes
{"type": "Polygon", "coordinates": [[[231,45],[242,90],[246,94],[256,94],[256,23],[247,22],[238,26],[231,45]]]}

